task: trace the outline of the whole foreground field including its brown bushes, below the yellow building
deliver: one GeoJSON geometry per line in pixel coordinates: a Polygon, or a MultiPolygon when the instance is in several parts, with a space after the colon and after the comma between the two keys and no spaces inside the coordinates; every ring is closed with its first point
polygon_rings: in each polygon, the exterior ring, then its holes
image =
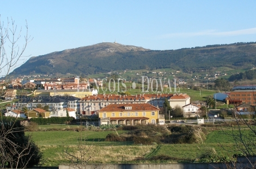
{"type": "Polygon", "coordinates": [[[232,147],[233,140],[216,125],[137,125],[108,129],[35,125],[33,128],[34,131],[26,134],[32,135],[44,153],[44,166],[69,163],[69,155],[78,155],[82,148],[89,157],[88,163],[115,164],[207,162],[205,157],[209,154],[218,161],[235,153],[223,150],[222,146],[232,147]]]}

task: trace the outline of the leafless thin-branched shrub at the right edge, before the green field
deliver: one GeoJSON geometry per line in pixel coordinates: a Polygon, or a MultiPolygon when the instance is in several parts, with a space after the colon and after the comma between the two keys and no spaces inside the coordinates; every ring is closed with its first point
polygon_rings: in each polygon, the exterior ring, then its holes
{"type": "MultiPolygon", "coordinates": [[[[221,145],[221,147],[228,152],[233,152],[236,157],[242,156],[243,159],[246,159],[247,166],[243,166],[241,168],[255,168],[256,161],[252,158],[252,156],[256,155],[255,107],[249,107],[247,112],[240,111],[235,104],[234,107],[235,109],[232,109],[231,106],[229,106],[229,110],[233,114],[234,119],[231,120],[230,124],[225,122],[228,128],[222,128],[223,133],[232,138],[233,145],[221,145]]],[[[237,161],[233,162],[233,166],[237,166],[242,163],[240,158],[237,158],[237,161]]]]}

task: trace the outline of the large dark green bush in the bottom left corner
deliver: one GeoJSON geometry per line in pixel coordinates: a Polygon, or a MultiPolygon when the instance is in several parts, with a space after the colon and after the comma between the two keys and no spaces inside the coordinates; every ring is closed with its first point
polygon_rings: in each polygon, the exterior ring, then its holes
{"type": "Polygon", "coordinates": [[[0,125],[1,167],[31,168],[39,165],[42,153],[31,140],[31,135],[25,135],[20,121],[1,116],[0,125]]]}

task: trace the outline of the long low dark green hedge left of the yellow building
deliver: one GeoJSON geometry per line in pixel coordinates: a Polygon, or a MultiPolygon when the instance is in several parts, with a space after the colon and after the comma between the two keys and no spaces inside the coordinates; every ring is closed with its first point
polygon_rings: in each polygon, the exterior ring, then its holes
{"type": "Polygon", "coordinates": [[[73,117],[51,117],[51,118],[31,118],[30,119],[30,121],[33,121],[38,125],[68,124],[72,120],[75,120],[75,119],[73,117]]]}

